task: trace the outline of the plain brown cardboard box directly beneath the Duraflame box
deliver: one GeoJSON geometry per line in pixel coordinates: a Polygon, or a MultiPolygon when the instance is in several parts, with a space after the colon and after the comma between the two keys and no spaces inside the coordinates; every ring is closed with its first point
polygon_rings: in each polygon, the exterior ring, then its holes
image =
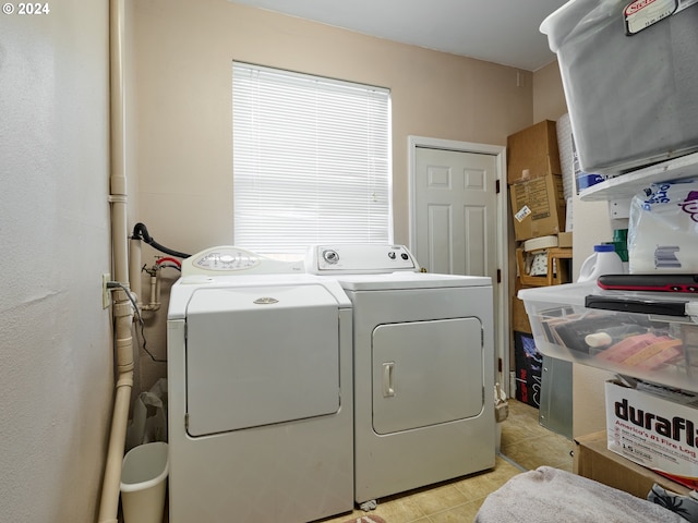
{"type": "Polygon", "coordinates": [[[655,483],[664,489],[679,495],[690,492],[688,487],[610,451],[605,430],[575,438],[573,466],[575,474],[642,499],[647,498],[655,483]]]}

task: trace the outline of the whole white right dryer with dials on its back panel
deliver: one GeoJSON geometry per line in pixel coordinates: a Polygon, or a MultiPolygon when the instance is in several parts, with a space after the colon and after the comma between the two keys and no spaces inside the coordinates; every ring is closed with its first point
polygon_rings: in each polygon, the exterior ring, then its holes
{"type": "Polygon", "coordinates": [[[488,277],[419,271],[400,245],[321,245],[306,270],[353,304],[354,496],[377,498],[494,466],[488,277]]]}

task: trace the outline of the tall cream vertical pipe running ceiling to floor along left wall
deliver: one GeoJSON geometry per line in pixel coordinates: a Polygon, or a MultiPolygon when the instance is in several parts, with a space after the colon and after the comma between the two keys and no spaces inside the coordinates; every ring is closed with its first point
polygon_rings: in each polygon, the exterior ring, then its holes
{"type": "MultiPolygon", "coordinates": [[[[111,238],[113,279],[124,285],[129,281],[127,229],[127,178],[124,169],[123,104],[123,0],[109,2],[110,123],[111,123],[111,238]]],[[[117,382],[115,404],[99,502],[100,523],[116,523],[121,488],[121,465],[125,448],[127,424],[133,388],[133,309],[125,291],[112,291],[115,315],[115,351],[117,382]]]]}

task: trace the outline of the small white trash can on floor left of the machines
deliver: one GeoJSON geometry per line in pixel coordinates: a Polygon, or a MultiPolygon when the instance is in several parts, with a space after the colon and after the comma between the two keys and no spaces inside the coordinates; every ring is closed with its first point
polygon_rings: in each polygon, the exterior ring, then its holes
{"type": "Polygon", "coordinates": [[[161,441],[127,452],[121,469],[124,523],[163,523],[169,464],[167,443],[161,441]]]}

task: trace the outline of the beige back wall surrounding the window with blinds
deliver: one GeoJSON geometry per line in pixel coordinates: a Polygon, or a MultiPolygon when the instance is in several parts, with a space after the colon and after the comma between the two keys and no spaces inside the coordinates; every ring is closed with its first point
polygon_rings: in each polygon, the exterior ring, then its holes
{"type": "MultiPolygon", "coordinates": [[[[133,3],[137,215],[158,243],[233,242],[231,62],[388,87],[395,242],[408,243],[408,136],[506,145],[533,123],[533,74],[226,0],[133,3]],[[517,73],[520,86],[517,86],[517,73]]],[[[157,254],[144,247],[144,263],[157,254]]],[[[164,306],[167,306],[164,300],[164,306]]],[[[164,357],[159,313],[148,346],[164,357]]],[[[161,365],[143,357],[144,387],[161,365]]]]}

